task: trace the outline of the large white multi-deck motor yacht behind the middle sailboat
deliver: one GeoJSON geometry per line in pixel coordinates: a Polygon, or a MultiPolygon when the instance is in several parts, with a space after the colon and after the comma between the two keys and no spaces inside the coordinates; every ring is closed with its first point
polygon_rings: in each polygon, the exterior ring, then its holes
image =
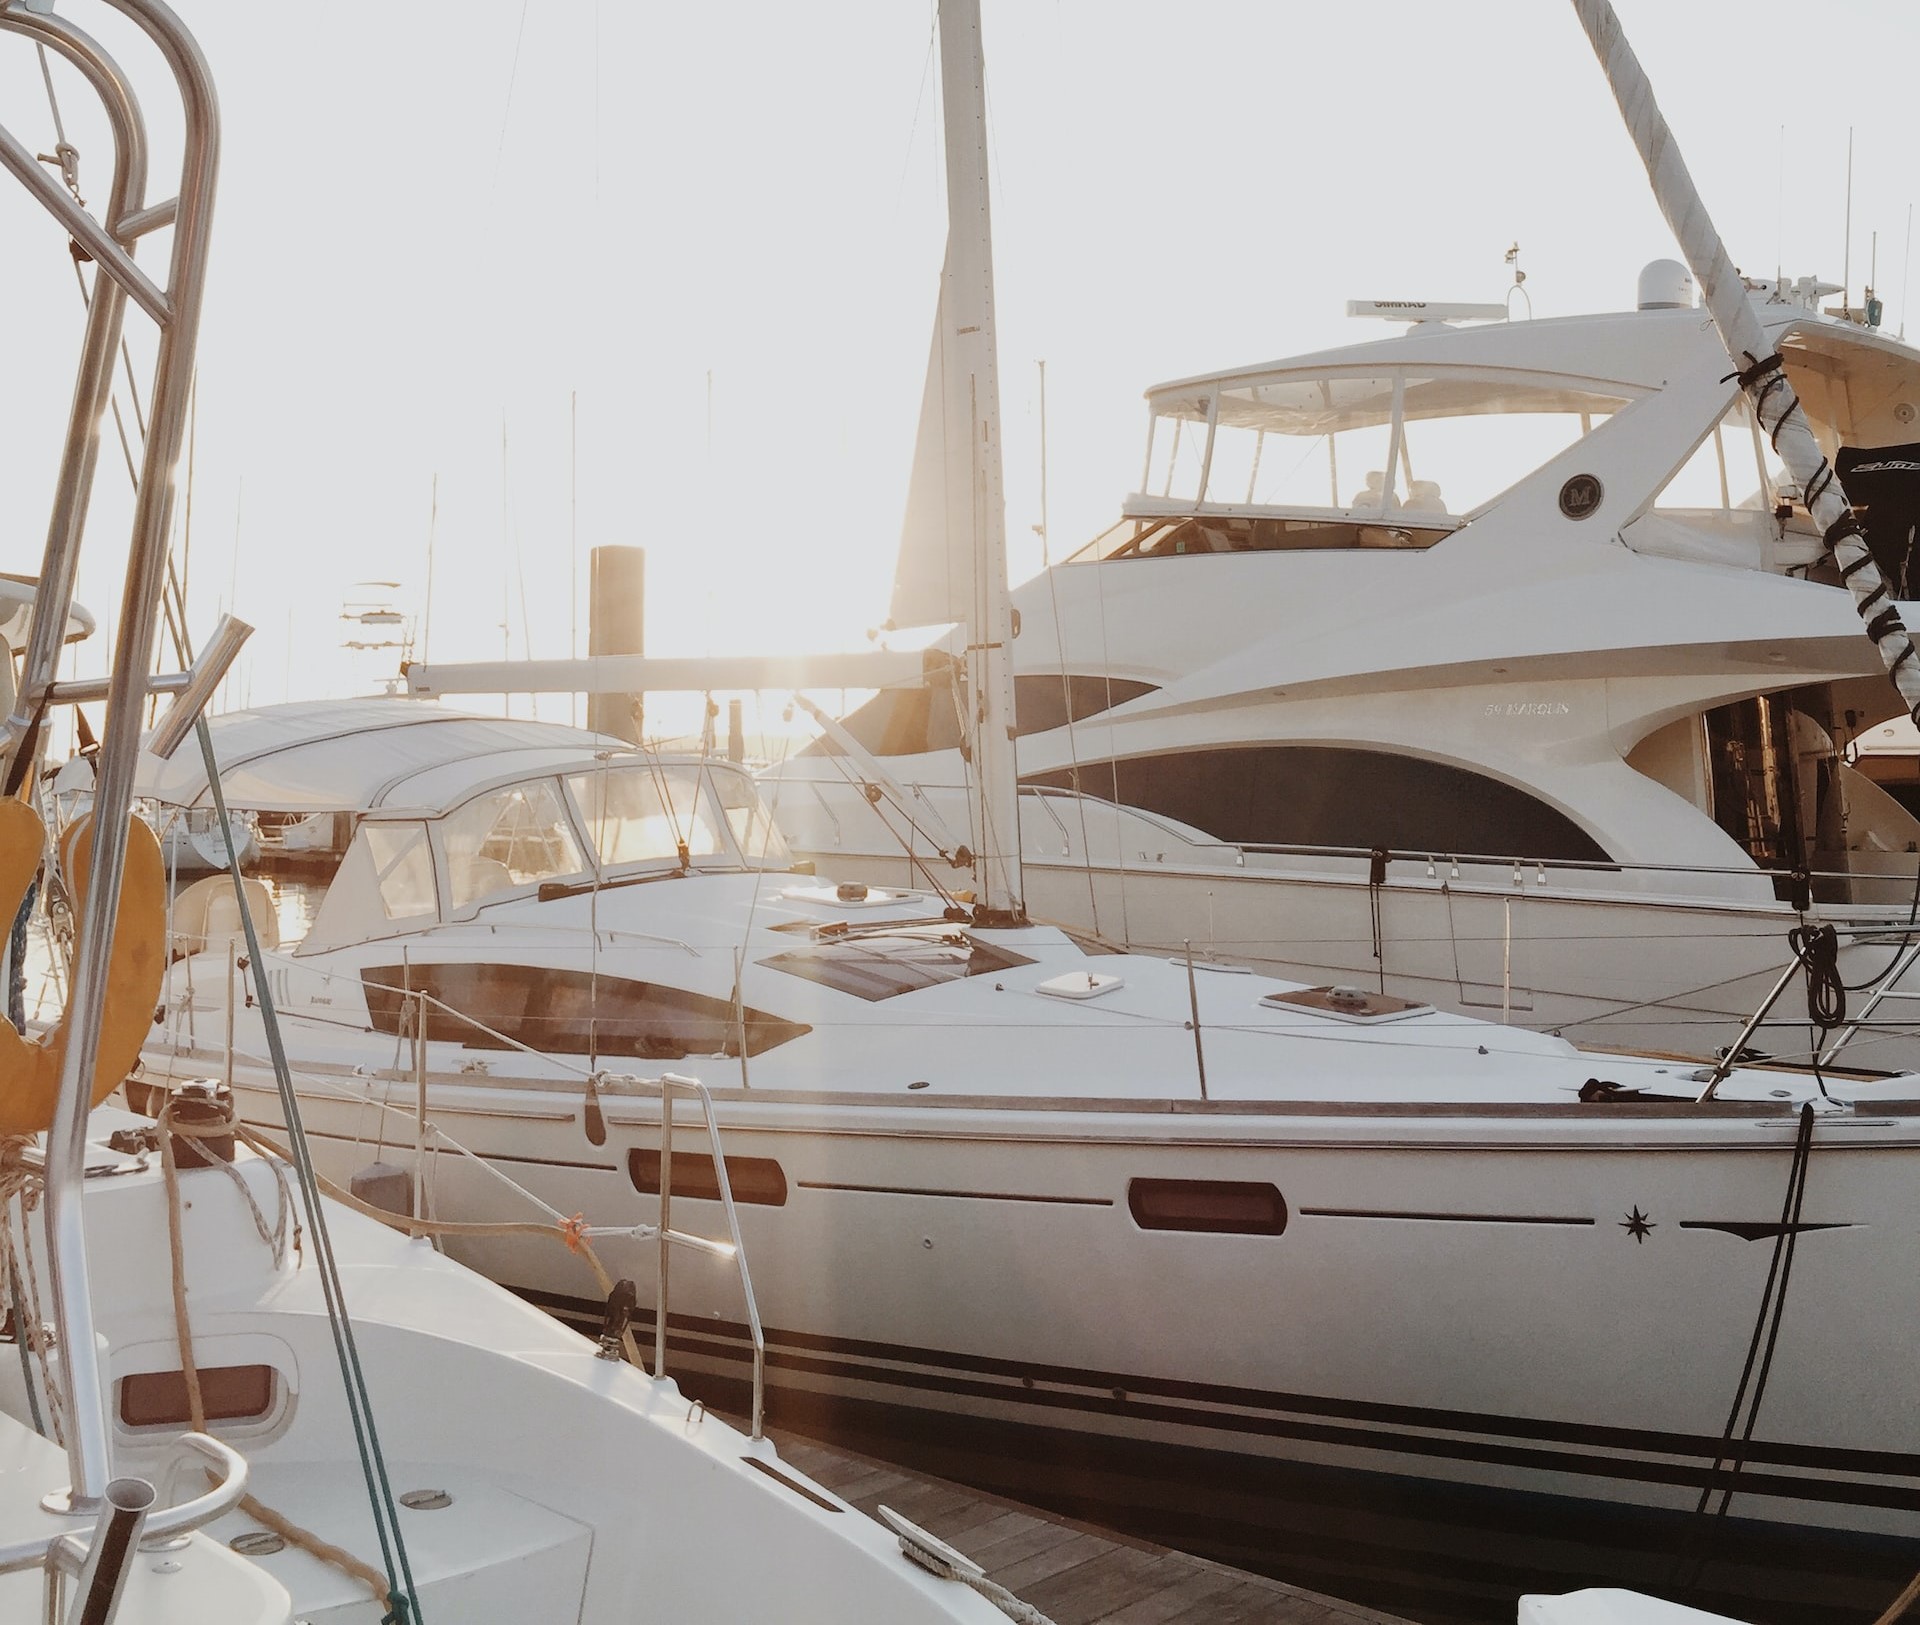
{"type": "MultiPolygon", "coordinates": [[[[1908,461],[1920,353],[1830,292],[1747,300],[1841,471],[1908,461]]],[[[1140,494],[1014,592],[1035,916],[1686,1053],[1734,1039],[1803,918],[1849,982],[1899,953],[1920,822],[1847,759],[1899,699],[1684,267],[1636,303],[1148,394],[1140,494]]],[[[1878,478],[1905,595],[1920,469],[1878,478]]],[[[824,874],[970,884],[924,828],[970,830],[952,672],[780,770],[824,874]]],[[[1920,1060],[1905,1010],[1860,1064],[1920,1060]]],[[[1786,1007],[1759,1041],[1809,1049],[1786,1007]]]]}

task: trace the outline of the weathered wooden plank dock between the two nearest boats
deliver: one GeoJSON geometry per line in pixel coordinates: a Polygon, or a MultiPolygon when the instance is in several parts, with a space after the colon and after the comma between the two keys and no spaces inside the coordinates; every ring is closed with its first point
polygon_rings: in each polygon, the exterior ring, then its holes
{"type": "Polygon", "coordinates": [[[874,1514],[891,1506],[966,1552],[1054,1625],[1405,1625],[1050,1512],[770,1429],[785,1462],[874,1514]]]}

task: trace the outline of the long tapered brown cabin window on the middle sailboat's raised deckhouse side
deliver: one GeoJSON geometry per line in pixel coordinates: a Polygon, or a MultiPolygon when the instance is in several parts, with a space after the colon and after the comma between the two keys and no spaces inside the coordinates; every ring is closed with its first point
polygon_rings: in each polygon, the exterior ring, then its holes
{"type": "Polygon", "coordinates": [[[760,1055],[810,1031],[732,999],[536,964],[388,964],[361,972],[374,1031],[401,1033],[407,989],[426,993],[426,1037],[549,1055],[760,1055]],[[445,1008],[442,1008],[445,1007],[445,1008]]]}

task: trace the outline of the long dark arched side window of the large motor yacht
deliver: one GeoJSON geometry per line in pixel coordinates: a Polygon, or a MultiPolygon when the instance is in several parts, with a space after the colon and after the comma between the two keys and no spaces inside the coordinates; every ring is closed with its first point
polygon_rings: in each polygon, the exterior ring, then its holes
{"type": "MultiPolygon", "coordinates": [[[[1073,789],[1073,772],[1027,784],[1073,789]]],[[[1607,862],[1565,812],[1448,763],[1332,745],[1171,751],[1083,763],[1079,789],[1235,845],[1607,862]]]]}

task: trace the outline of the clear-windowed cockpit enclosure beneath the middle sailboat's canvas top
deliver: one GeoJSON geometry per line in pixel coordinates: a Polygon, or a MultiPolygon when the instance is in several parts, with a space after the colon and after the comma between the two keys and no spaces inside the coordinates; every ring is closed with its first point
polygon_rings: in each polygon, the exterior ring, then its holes
{"type": "Polygon", "coordinates": [[[444,811],[367,812],[301,951],[470,918],[553,884],[791,864],[755,782],[732,763],[601,757],[486,786],[444,811]]]}

